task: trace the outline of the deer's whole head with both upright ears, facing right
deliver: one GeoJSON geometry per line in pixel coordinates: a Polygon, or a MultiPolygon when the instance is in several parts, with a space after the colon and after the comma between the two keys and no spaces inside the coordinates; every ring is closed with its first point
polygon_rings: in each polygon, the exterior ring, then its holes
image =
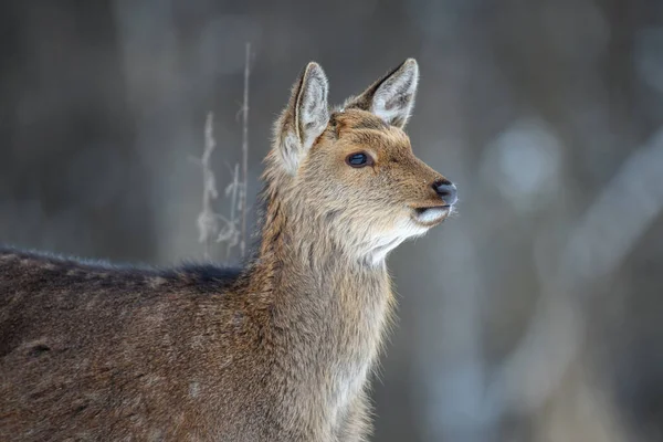
{"type": "Polygon", "coordinates": [[[311,63],[276,125],[271,157],[281,191],[373,264],[441,223],[456,202],[455,186],[414,156],[403,131],[417,82],[417,62],[407,60],[329,112],[327,80],[311,63]]]}

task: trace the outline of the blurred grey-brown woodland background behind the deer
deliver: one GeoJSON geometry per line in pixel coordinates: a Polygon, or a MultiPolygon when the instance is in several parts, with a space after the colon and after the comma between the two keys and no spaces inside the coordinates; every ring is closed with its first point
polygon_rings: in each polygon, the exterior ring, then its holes
{"type": "Polygon", "coordinates": [[[250,202],[308,61],[340,103],[417,57],[460,214],[390,257],[373,440],[663,441],[663,2],[2,1],[0,33],[0,242],[154,264],[203,259],[209,112],[232,211],[248,42],[250,202]]]}

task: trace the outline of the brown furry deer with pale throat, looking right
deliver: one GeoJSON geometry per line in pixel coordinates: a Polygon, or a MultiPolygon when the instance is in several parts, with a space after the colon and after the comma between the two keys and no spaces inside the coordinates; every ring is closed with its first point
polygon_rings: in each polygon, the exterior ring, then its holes
{"type": "Polygon", "coordinates": [[[251,257],[170,269],[0,250],[0,440],[366,441],[387,255],[454,212],[413,152],[413,59],[333,107],[309,63],[274,125],[251,257]]]}

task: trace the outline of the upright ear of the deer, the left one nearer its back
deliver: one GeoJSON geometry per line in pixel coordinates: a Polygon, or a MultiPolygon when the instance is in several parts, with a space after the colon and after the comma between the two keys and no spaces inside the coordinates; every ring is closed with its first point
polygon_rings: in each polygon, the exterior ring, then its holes
{"type": "Polygon", "coordinates": [[[323,69],[317,63],[308,63],[276,123],[278,152],[291,175],[296,173],[299,162],[329,123],[328,90],[323,69]]]}

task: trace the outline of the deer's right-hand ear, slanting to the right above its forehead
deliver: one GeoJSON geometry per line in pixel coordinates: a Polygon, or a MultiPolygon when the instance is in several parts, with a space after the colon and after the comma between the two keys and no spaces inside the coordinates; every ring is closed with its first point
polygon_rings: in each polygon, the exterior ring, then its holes
{"type": "Polygon", "coordinates": [[[371,112],[387,124],[403,128],[414,105],[418,83],[419,65],[414,59],[408,59],[361,95],[350,98],[345,108],[371,112]]]}

